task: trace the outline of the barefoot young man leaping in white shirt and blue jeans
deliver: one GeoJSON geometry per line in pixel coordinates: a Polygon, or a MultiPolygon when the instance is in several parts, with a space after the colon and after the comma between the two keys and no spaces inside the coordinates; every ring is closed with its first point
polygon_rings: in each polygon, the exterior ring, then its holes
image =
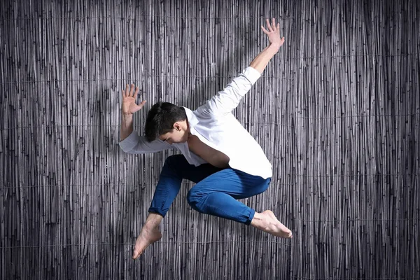
{"type": "Polygon", "coordinates": [[[272,166],[262,148],[232,115],[241,97],[255,83],[269,60],[279,51],[284,37],[279,36],[279,24],[267,20],[262,31],[269,45],[251,64],[195,111],[170,103],[153,105],[148,112],[145,137],[133,131],[132,114],[146,101],[136,104],[139,87],[123,90],[123,120],[120,147],[126,153],[151,153],[178,148],[182,155],[172,155],[165,161],[146,223],[134,246],[133,258],[158,241],[160,221],[179,193],[182,179],[197,183],[188,192],[187,200],[193,209],[204,214],[228,218],[252,225],[276,237],[291,238],[288,228],[272,211],[255,212],[238,199],[258,195],[267,190],[272,166]]]}

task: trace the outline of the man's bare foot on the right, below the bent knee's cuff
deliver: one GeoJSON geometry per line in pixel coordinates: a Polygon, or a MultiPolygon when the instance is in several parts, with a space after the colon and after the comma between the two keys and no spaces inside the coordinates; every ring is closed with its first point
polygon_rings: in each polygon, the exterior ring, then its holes
{"type": "Polygon", "coordinates": [[[277,220],[272,211],[266,210],[262,213],[255,212],[251,225],[258,230],[268,232],[270,235],[283,238],[292,238],[292,232],[285,225],[277,220]]]}

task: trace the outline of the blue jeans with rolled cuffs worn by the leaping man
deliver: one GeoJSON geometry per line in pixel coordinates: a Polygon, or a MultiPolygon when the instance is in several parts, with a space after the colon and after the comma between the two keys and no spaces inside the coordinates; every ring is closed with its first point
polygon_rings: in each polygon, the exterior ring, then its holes
{"type": "Polygon", "coordinates": [[[187,195],[193,209],[246,225],[251,223],[255,210],[237,200],[264,192],[271,182],[271,178],[262,179],[232,168],[220,169],[209,164],[195,167],[183,155],[172,155],[160,172],[148,211],[165,217],[179,193],[182,179],[197,183],[187,195]]]}

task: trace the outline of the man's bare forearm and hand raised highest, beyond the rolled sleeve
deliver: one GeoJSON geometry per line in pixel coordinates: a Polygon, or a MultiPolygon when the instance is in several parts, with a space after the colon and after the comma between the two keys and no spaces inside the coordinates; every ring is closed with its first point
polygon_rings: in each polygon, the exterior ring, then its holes
{"type": "Polygon", "coordinates": [[[262,50],[249,64],[253,69],[257,70],[258,72],[262,73],[264,71],[265,66],[267,66],[269,59],[272,59],[274,55],[279,51],[279,48],[284,43],[284,37],[280,38],[280,24],[277,23],[276,20],[272,19],[272,25],[269,24],[269,20],[266,20],[267,22],[267,29],[265,29],[261,25],[262,31],[267,34],[269,45],[267,48],[262,50]]]}

